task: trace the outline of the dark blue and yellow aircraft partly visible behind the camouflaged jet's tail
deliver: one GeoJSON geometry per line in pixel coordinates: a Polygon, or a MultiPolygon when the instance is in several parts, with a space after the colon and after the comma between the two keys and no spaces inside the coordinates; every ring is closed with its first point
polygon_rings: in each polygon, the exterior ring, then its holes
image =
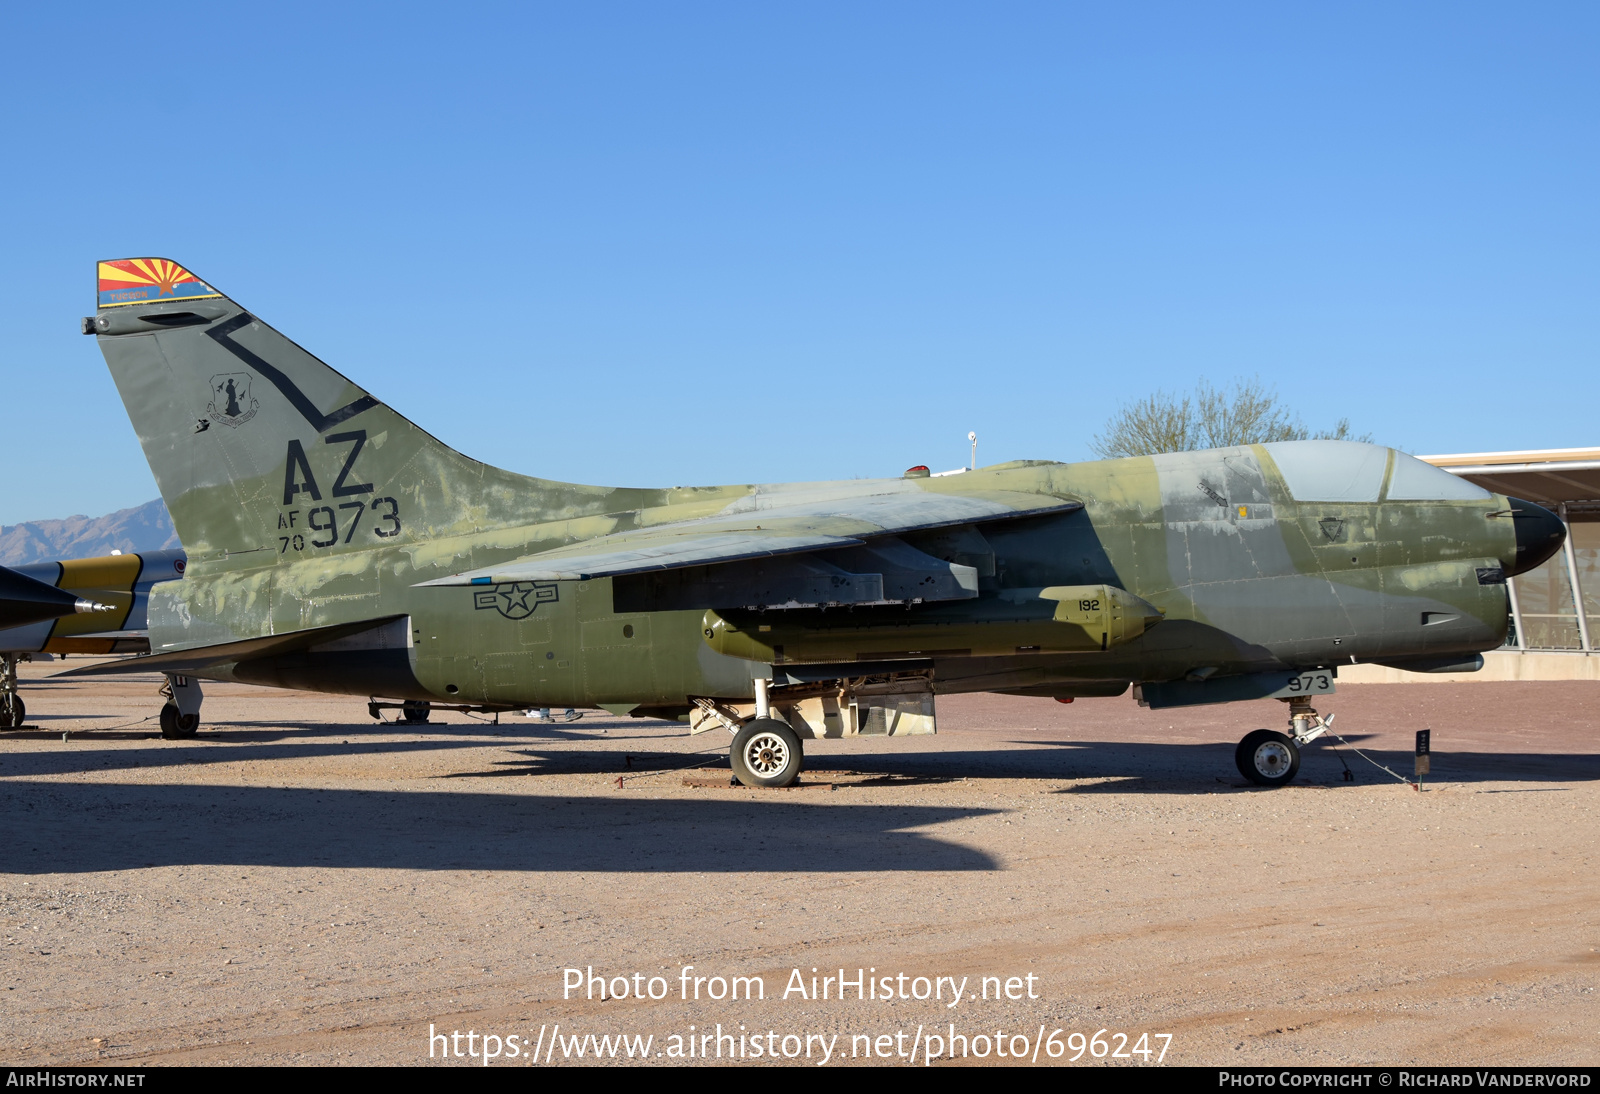
{"type": "Polygon", "coordinates": [[[16,662],[32,654],[149,653],[150,587],[184,574],[184,552],[0,566],[0,729],[27,718],[16,662]]]}

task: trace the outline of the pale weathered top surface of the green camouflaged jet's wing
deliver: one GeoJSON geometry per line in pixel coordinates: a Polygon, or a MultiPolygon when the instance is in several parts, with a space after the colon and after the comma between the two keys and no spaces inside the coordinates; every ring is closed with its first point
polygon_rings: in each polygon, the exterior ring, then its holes
{"type": "Polygon", "coordinates": [[[992,489],[938,494],[896,489],[869,496],[811,497],[784,504],[741,499],[715,517],[635,528],[469,569],[422,585],[499,585],[518,581],[589,581],[682,566],[861,547],[898,533],[1064,513],[1083,502],[1048,494],[992,489]]]}

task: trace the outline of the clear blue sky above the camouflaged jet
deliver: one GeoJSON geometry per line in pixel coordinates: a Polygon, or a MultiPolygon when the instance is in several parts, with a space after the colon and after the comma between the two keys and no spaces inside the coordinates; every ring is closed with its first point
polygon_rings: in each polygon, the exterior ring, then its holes
{"type": "Polygon", "coordinates": [[[11,5],[0,523],[155,496],[166,256],[462,451],[613,485],[1085,459],[1259,374],[1600,443],[1594,5],[11,5]],[[53,10],[54,8],[54,10],[53,10]]]}

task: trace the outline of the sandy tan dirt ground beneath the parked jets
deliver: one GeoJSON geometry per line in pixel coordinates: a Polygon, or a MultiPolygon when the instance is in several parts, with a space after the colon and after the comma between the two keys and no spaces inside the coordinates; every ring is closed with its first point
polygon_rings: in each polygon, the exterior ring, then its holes
{"type": "Polygon", "coordinates": [[[1600,1062],[1595,683],[1322,704],[1403,774],[1432,728],[1422,792],[1323,742],[1261,790],[1234,744],[1282,704],[1126,696],[941,699],[936,737],[754,792],[726,734],[595,712],[416,731],[208,685],[170,742],[158,678],[59,669],[0,734],[11,1064],[1600,1062]],[[627,998],[563,998],[590,966],[627,998]]]}

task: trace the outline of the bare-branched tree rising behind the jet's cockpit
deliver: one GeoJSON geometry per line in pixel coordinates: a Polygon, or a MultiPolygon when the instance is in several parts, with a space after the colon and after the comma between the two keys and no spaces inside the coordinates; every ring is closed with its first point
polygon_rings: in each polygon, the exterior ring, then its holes
{"type": "Polygon", "coordinates": [[[1200,381],[1192,393],[1158,390],[1126,403],[1106,424],[1106,432],[1090,441],[1090,448],[1101,459],[1117,459],[1307,438],[1373,440],[1371,433],[1354,437],[1347,417],[1341,417],[1333,429],[1312,433],[1298,414],[1278,401],[1278,393],[1254,376],[1234,381],[1232,389],[1200,381]]]}

